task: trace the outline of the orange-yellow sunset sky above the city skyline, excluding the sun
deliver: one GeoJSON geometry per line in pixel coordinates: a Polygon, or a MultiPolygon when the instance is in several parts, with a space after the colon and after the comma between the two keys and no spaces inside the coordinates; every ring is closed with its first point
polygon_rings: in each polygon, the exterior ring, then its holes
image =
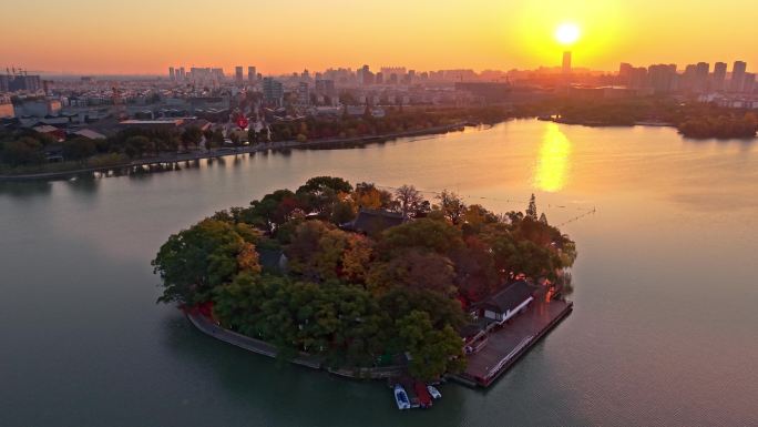
{"type": "Polygon", "coordinates": [[[583,33],[577,67],[758,64],[748,0],[24,0],[3,11],[0,67],[54,73],[534,68],[560,62],[553,31],[566,21],[583,33]]]}

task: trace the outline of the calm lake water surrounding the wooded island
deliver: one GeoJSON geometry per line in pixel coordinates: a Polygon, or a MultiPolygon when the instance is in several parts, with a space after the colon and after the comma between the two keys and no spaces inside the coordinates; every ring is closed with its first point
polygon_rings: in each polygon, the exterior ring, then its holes
{"type": "MultiPolygon", "coordinates": [[[[431,194],[430,194],[431,196],[431,194]]],[[[758,425],[758,144],[513,121],[178,172],[0,185],[0,426],[758,425]],[[577,242],[574,313],[489,390],[400,413],[156,305],[172,233],[314,175],[541,211],[577,242]]]]}

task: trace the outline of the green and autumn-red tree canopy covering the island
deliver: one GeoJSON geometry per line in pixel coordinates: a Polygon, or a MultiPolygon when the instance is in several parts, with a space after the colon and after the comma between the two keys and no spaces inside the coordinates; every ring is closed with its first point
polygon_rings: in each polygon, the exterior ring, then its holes
{"type": "Polygon", "coordinates": [[[526,214],[505,215],[452,192],[437,200],[410,185],[390,193],[331,176],[275,191],[171,236],[153,261],[160,301],[213,303],[224,327],[276,345],[281,357],[375,366],[408,355],[420,379],[459,372],[461,299],[481,301],[520,273],[553,277],[576,250],[536,220],[535,197],[526,214]],[[403,223],[371,235],[340,228],[365,207],[403,223]],[[262,270],[264,255],[286,256],[286,268],[262,270]]]}

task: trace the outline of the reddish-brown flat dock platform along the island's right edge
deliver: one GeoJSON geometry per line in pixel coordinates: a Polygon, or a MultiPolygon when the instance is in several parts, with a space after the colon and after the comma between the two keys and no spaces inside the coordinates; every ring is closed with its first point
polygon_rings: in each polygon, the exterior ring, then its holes
{"type": "Polygon", "coordinates": [[[565,299],[546,301],[544,294],[524,313],[488,333],[486,345],[468,355],[465,372],[450,378],[470,387],[489,387],[573,309],[565,299]]]}

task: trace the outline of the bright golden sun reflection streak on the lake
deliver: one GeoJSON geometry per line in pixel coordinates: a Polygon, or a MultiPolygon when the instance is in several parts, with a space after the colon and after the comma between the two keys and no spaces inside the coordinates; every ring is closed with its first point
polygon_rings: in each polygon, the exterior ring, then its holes
{"type": "Polygon", "coordinates": [[[534,170],[534,185],[550,193],[566,185],[571,156],[571,141],[557,124],[551,123],[542,138],[540,157],[534,170]]]}

